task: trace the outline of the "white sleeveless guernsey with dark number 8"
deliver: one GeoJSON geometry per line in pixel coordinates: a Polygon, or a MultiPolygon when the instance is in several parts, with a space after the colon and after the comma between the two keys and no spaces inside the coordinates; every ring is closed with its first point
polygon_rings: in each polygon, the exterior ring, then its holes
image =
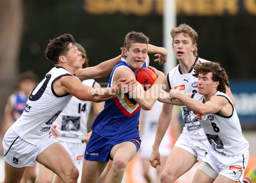
{"type": "MultiPolygon", "coordinates": [[[[225,93],[218,91],[215,95],[225,97],[232,105],[233,113],[230,116],[223,116],[219,113],[204,116],[196,114],[209,142],[207,151],[224,156],[241,155],[248,151],[249,143],[242,134],[236,109],[225,93]]],[[[192,98],[203,102],[204,96],[196,93],[192,95],[192,98]]]]}

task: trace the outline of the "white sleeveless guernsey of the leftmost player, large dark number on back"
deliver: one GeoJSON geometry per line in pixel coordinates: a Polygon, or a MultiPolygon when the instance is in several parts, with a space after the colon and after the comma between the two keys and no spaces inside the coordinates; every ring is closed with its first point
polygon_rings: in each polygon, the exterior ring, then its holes
{"type": "Polygon", "coordinates": [[[63,76],[73,76],[63,67],[54,67],[31,92],[19,119],[12,125],[26,142],[39,145],[51,133],[52,123],[70,102],[72,95],[58,96],[53,83],[63,76]]]}

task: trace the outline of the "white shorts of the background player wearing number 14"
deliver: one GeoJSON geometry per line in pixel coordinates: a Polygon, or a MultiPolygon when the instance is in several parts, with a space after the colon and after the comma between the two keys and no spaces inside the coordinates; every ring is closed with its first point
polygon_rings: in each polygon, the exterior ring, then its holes
{"type": "Polygon", "coordinates": [[[64,148],[67,150],[68,154],[72,158],[76,168],[83,168],[84,162],[84,152],[86,148],[86,143],[70,143],[59,141],[64,148]]]}

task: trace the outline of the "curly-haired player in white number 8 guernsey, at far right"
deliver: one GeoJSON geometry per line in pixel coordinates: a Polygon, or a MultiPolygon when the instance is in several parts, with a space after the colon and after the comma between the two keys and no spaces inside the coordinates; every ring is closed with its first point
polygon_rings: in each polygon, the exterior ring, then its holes
{"type": "Polygon", "coordinates": [[[195,112],[207,137],[207,153],[192,183],[242,182],[249,160],[249,143],[242,134],[236,109],[225,94],[229,86],[227,74],[214,62],[199,62],[194,69],[198,93],[183,94],[180,87],[169,92],[169,101],[195,112]]]}

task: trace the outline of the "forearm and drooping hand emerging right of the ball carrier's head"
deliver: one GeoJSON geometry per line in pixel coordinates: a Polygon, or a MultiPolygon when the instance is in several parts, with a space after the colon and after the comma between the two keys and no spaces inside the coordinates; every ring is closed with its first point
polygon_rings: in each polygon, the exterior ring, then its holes
{"type": "Polygon", "coordinates": [[[158,47],[152,44],[148,44],[148,53],[154,53],[154,56],[158,57],[154,60],[154,62],[158,62],[159,65],[164,64],[167,61],[168,52],[164,47],[158,47]]]}

